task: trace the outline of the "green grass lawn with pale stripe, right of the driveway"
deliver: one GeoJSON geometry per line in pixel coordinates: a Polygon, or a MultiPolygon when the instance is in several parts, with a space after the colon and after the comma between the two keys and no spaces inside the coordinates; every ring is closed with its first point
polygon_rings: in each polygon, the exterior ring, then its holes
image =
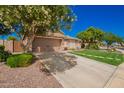
{"type": "Polygon", "coordinates": [[[124,62],[124,55],[117,52],[107,52],[101,50],[82,50],[73,51],[72,53],[115,66],[118,66],[119,64],[124,62]]]}

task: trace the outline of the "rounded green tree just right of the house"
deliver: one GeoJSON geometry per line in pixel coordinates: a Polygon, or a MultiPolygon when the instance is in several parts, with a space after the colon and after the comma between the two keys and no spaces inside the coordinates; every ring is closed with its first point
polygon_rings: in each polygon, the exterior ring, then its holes
{"type": "Polygon", "coordinates": [[[82,40],[83,43],[97,44],[102,41],[104,32],[98,28],[89,27],[85,31],[82,31],[77,34],[77,37],[82,40]]]}

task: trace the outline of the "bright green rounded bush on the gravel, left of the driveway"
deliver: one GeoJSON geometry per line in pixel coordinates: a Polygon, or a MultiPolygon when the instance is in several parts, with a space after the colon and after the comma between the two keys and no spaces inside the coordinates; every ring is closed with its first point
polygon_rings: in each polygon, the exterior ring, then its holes
{"type": "Polygon", "coordinates": [[[32,64],[32,54],[16,54],[7,58],[7,65],[10,67],[26,67],[32,64]]]}

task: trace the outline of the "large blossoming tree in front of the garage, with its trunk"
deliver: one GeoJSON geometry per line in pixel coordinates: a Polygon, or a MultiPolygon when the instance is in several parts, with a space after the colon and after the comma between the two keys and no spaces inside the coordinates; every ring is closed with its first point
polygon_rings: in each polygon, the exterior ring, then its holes
{"type": "Polygon", "coordinates": [[[0,22],[17,33],[24,50],[29,49],[37,33],[70,29],[74,21],[68,6],[0,6],[0,22]],[[21,31],[15,25],[21,25],[21,31]]]}

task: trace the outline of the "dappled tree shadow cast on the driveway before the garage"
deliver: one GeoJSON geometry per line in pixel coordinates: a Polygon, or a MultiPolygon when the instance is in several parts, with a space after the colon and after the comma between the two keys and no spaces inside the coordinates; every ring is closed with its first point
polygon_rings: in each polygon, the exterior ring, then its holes
{"type": "Polygon", "coordinates": [[[40,70],[47,73],[64,72],[77,65],[76,57],[65,53],[45,52],[39,54],[38,57],[43,61],[40,70]]]}

